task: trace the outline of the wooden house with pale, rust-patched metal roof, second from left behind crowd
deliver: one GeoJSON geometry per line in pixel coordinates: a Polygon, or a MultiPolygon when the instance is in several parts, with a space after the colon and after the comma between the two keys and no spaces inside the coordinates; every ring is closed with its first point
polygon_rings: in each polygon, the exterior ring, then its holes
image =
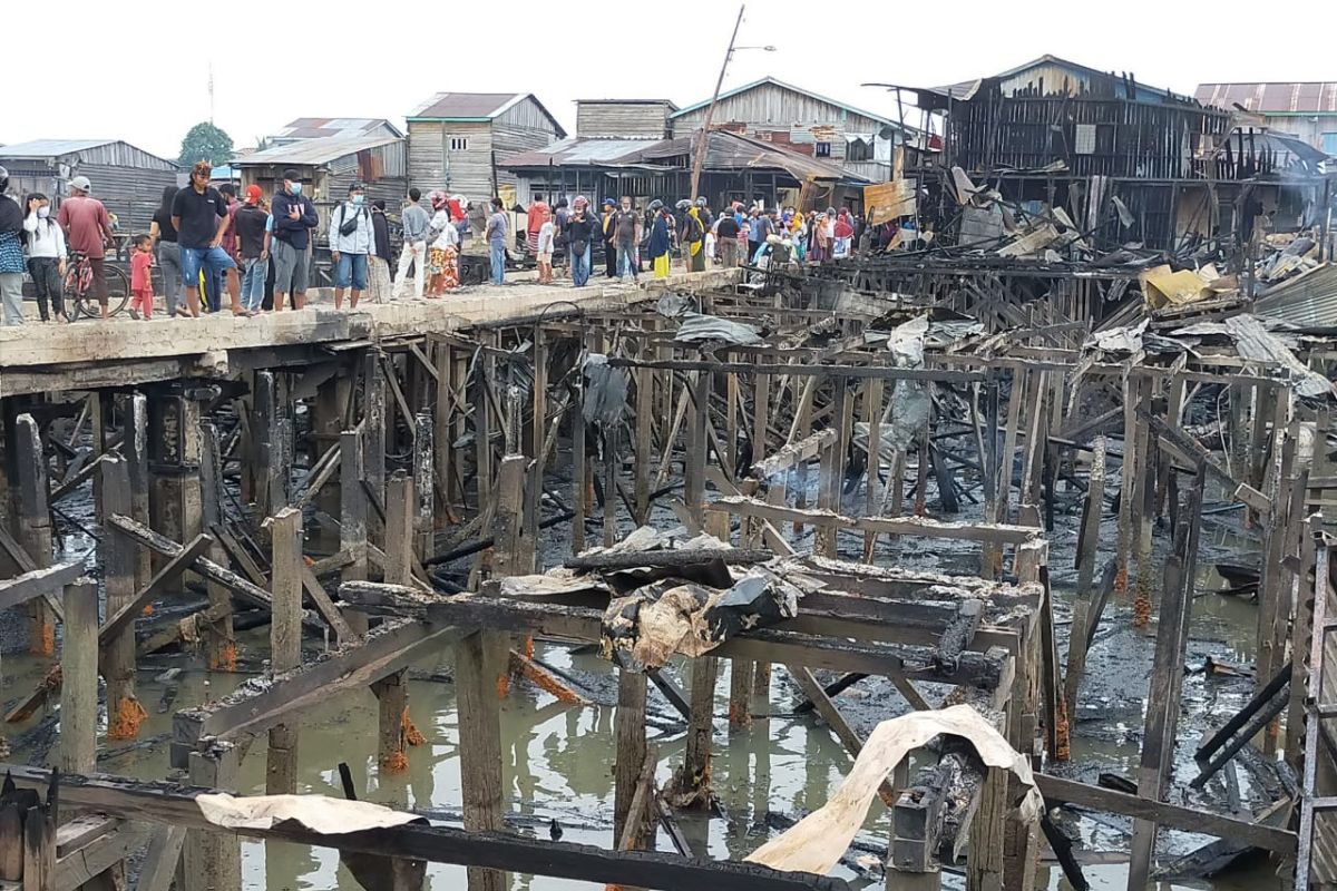
{"type": "Polygon", "coordinates": [[[357,138],[302,139],[233,159],[241,188],[258,184],[265,195],[283,187],[283,171],[302,175],[303,194],[316,202],[321,215],[317,243],[325,244],[329,211],[348,196],[348,187],[362,183],[366,202],[380,198],[386,211],[398,211],[409,190],[408,146],[402,138],[372,135],[357,138]]]}

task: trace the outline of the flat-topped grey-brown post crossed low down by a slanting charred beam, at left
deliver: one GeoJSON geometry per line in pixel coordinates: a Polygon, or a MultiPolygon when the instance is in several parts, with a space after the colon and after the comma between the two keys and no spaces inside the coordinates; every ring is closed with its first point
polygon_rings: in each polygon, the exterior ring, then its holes
{"type": "MultiPolygon", "coordinates": [[[[270,671],[279,675],[302,664],[302,512],[283,508],[266,520],[265,525],[269,528],[273,552],[270,671]]],[[[265,791],[269,795],[297,792],[294,724],[279,724],[269,731],[265,791]]]]}

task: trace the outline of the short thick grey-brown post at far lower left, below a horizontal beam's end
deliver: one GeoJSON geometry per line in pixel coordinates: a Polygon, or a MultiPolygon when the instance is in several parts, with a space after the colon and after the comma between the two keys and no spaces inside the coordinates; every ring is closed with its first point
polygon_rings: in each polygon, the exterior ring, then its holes
{"type": "Polygon", "coordinates": [[[98,769],[98,584],[80,578],[66,585],[64,609],[60,769],[87,775],[98,769]]]}

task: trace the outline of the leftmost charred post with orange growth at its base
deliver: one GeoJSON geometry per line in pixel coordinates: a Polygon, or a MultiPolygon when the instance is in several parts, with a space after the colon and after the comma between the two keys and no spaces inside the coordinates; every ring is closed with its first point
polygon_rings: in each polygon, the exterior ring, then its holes
{"type": "MultiPolygon", "coordinates": [[[[102,500],[107,517],[128,516],[131,510],[130,470],[126,460],[108,457],[102,464],[102,500]]],[[[103,540],[103,572],[107,588],[107,614],[135,600],[135,545],[107,525],[103,540]]],[[[134,622],[103,645],[102,673],[107,679],[107,739],[132,740],[147,717],[135,696],[134,622]]]]}

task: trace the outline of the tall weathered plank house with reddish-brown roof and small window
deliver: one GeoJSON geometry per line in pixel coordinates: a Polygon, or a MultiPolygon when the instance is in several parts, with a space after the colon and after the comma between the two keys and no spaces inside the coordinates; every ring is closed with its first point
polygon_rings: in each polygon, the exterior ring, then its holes
{"type": "Polygon", "coordinates": [[[515,176],[497,160],[543,148],[567,134],[533,94],[436,94],[408,114],[409,182],[475,203],[515,200],[515,176]]]}

